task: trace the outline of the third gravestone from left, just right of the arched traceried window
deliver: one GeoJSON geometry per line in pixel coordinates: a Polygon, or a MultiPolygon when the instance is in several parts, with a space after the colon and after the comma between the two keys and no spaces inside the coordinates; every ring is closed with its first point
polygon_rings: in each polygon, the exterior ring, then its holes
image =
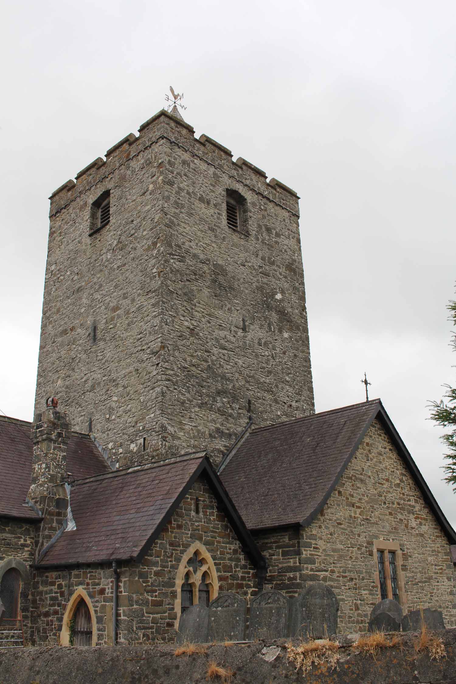
{"type": "Polygon", "coordinates": [[[250,604],[249,639],[288,636],[289,599],[276,591],[261,592],[250,604]]]}

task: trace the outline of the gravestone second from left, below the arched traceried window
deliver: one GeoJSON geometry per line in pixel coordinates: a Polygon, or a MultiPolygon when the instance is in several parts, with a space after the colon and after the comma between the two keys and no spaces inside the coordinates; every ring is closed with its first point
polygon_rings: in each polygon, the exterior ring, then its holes
{"type": "Polygon", "coordinates": [[[247,607],[241,596],[219,594],[209,603],[209,641],[243,641],[247,607]]]}

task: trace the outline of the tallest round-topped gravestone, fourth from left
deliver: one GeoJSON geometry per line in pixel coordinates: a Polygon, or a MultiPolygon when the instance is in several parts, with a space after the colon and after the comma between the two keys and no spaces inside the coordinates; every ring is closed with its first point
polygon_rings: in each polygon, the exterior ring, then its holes
{"type": "Polygon", "coordinates": [[[337,633],[339,602],[333,590],[323,582],[314,582],[293,599],[290,633],[292,637],[322,639],[337,633]]]}

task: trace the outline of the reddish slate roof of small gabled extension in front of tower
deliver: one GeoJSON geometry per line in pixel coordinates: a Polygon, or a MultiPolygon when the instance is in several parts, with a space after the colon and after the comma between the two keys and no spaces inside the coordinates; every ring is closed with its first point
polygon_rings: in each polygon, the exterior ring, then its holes
{"type": "Polygon", "coordinates": [[[209,482],[256,566],[265,559],[203,453],[114,471],[76,482],[70,508],[77,529],[63,531],[44,550],[40,567],[140,561],[196,479],[209,482]]]}

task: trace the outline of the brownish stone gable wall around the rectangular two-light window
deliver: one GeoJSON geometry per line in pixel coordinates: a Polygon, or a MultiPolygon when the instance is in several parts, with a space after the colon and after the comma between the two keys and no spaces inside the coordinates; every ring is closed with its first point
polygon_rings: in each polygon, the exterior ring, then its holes
{"type": "Polygon", "coordinates": [[[399,542],[406,605],[442,610],[456,626],[448,540],[379,421],[374,421],[329,501],[301,531],[301,581],[325,581],[340,601],[338,629],[365,629],[380,600],[374,540],[399,542]],[[305,548],[307,547],[307,548],[305,548]]]}

